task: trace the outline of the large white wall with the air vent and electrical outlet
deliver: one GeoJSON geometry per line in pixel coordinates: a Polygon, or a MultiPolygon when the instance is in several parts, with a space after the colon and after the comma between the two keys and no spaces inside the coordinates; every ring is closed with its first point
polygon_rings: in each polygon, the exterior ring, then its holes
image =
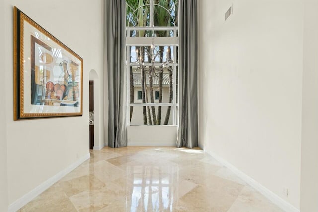
{"type": "Polygon", "coordinates": [[[199,9],[200,146],[299,208],[302,0],[201,0],[199,9]]]}

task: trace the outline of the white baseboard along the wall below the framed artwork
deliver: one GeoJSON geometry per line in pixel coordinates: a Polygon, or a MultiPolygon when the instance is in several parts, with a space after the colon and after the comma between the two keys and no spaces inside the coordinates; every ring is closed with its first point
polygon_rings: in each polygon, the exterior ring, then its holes
{"type": "Polygon", "coordinates": [[[49,178],[45,182],[41,183],[39,186],[35,187],[32,191],[25,194],[23,197],[19,198],[18,200],[14,201],[8,209],[8,212],[16,212],[20,208],[22,208],[24,205],[26,205],[28,202],[33,200],[35,197],[37,197],[39,194],[47,190],[50,186],[52,186],[54,183],[59,181],[61,178],[63,178],[65,175],[70,173],[73,169],[78,167],[80,164],[85,162],[87,159],[90,158],[90,153],[85,155],[84,157],[78,159],[75,163],[68,166],[66,169],[62,170],[61,172],[57,173],[53,177],[49,178]]]}

